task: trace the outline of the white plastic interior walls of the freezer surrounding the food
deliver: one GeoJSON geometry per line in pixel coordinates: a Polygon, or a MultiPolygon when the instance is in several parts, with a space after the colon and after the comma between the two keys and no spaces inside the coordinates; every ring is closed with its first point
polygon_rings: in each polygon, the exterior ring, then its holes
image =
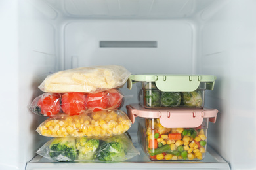
{"type": "MultiPolygon", "coordinates": [[[[123,65],[133,74],[217,76],[215,89],[205,95],[205,106],[219,110],[207,143],[230,169],[256,169],[255,18],[254,0],[1,0],[0,169],[29,169],[35,151],[49,140],[35,131],[45,118],[28,109],[45,76],[93,65],[123,65]]],[[[122,92],[125,105],[137,102],[136,87],[122,92]]],[[[129,132],[137,133],[137,124],[129,132]]],[[[148,162],[113,166],[197,164],[148,162]]],[[[31,165],[61,169],[56,163],[31,165]]]]}

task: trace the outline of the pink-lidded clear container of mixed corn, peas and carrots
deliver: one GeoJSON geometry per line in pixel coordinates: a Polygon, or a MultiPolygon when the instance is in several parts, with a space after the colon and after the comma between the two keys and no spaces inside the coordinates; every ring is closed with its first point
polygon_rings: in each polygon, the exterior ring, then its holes
{"type": "Polygon", "coordinates": [[[127,105],[131,122],[139,117],[138,141],[152,161],[203,160],[208,122],[215,123],[216,109],[144,109],[127,105]]]}

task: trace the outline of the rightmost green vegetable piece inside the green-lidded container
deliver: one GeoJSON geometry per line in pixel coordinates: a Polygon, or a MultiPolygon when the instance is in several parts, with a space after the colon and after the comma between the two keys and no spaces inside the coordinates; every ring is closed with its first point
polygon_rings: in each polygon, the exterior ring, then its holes
{"type": "Polygon", "coordinates": [[[193,92],[181,92],[182,103],[186,106],[200,107],[203,104],[201,92],[195,90],[193,92]]]}

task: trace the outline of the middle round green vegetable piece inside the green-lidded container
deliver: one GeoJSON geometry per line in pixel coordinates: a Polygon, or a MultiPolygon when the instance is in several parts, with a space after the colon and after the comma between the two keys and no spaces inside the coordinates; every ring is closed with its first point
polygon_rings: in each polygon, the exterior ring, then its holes
{"type": "Polygon", "coordinates": [[[176,107],[181,104],[181,93],[179,92],[162,92],[161,105],[165,107],[176,107]]]}

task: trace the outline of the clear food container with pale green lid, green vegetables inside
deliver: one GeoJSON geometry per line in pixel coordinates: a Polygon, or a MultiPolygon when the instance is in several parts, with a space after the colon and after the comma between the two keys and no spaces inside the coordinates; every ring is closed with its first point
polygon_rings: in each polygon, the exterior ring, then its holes
{"type": "Polygon", "coordinates": [[[131,75],[140,105],[146,109],[203,109],[205,90],[213,90],[213,75],[131,75]]]}

